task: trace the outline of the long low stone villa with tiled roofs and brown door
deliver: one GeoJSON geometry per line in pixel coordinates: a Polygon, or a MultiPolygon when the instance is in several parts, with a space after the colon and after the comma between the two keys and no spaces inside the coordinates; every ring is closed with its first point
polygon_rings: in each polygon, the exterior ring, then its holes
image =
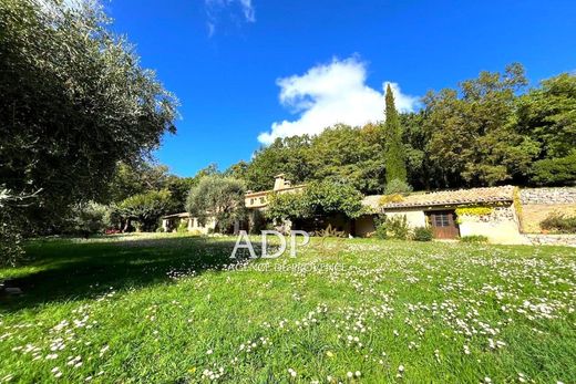
{"type": "MultiPolygon", "coordinates": [[[[257,217],[261,217],[259,214],[266,211],[270,194],[294,194],[305,188],[306,185],[292,186],[285,175],[280,174],[276,176],[272,189],[247,191],[245,205],[250,211],[249,220],[244,226],[237,224],[235,231],[255,225],[257,217]]],[[[534,220],[531,218],[544,217],[558,208],[562,211],[572,210],[576,214],[576,187],[520,190],[514,186],[500,186],[412,193],[408,196],[397,195],[393,199],[389,196],[372,195],[366,196],[362,204],[368,208],[369,214],[353,220],[344,217],[326,218],[322,222],[330,224],[332,228],[350,236],[370,237],[376,231],[374,222],[379,215],[405,216],[409,227],[430,227],[436,239],[484,236],[493,243],[544,243],[537,233],[537,228],[534,229],[532,222],[534,220]],[[525,235],[526,228],[536,233],[525,235]]],[[[165,231],[173,231],[182,220],[186,220],[188,231],[199,235],[212,232],[216,226],[215,220],[209,220],[206,226],[199,226],[196,218],[182,212],[163,217],[162,227],[165,231]]],[[[286,225],[295,226],[290,222],[286,225]]],[[[558,239],[564,241],[563,238],[558,239]]],[[[548,240],[546,239],[546,243],[548,240]]],[[[568,240],[570,243],[574,241],[572,237],[568,240]]]]}

